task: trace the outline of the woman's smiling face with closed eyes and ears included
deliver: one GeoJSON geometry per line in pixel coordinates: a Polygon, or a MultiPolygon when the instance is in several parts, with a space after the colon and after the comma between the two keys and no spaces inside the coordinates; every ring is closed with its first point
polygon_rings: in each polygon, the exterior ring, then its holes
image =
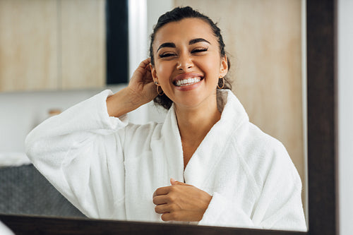
{"type": "Polygon", "coordinates": [[[177,107],[198,107],[215,99],[218,79],[227,74],[227,57],[221,58],[208,23],[198,18],[167,23],[152,47],[152,76],[177,107]]]}

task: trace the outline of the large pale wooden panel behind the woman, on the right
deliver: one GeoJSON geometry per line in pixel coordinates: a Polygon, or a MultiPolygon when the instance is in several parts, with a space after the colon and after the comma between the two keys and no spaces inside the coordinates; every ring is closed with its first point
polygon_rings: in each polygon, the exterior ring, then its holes
{"type": "Polygon", "coordinates": [[[232,62],[229,78],[233,80],[233,92],[251,122],[282,141],[304,182],[301,1],[174,3],[193,6],[219,23],[232,62]]]}

